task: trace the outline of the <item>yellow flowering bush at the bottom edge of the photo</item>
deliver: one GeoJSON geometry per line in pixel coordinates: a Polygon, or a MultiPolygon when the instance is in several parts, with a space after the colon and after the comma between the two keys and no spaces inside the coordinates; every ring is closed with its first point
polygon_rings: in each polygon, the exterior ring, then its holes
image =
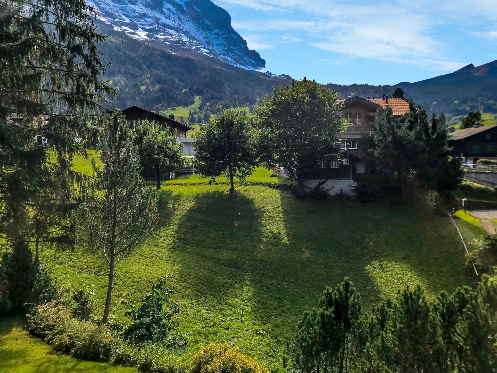
{"type": "Polygon", "coordinates": [[[192,373],[269,373],[269,370],[236,347],[210,343],[193,357],[192,373]]]}

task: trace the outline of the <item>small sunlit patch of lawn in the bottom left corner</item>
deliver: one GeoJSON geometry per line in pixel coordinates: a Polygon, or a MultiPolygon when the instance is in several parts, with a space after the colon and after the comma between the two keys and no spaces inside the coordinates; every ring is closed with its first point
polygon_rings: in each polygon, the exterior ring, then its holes
{"type": "Polygon", "coordinates": [[[133,368],[53,355],[41,339],[21,327],[19,319],[0,320],[0,372],[9,373],[132,373],[133,368]]]}

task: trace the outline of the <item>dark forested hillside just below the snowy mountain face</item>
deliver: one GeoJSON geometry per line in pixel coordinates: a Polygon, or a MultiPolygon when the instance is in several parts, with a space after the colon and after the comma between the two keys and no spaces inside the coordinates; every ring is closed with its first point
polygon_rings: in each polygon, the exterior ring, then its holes
{"type": "Polygon", "coordinates": [[[133,104],[152,110],[185,106],[195,102],[195,95],[206,102],[229,102],[231,106],[253,105],[273,86],[287,80],[268,77],[228,64],[170,53],[158,44],[130,38],[122,32],[108,34],[108,47],[101,48],[103,59],[111,62],[105,73],[119,89],[116,103],[133,104]]]}

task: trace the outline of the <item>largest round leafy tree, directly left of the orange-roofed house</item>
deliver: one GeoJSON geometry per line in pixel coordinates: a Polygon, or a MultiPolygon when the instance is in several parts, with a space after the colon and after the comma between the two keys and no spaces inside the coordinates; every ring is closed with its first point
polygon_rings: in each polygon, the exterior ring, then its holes
{"type": "Polygon", "coordinates": [[[347,128],[336,94],[306,78],[279,86],[264,96],[256,114],[265,138],[264,159],[269,167],[284,167],[304,195],[306,173],[340,143],[347,128]]]}

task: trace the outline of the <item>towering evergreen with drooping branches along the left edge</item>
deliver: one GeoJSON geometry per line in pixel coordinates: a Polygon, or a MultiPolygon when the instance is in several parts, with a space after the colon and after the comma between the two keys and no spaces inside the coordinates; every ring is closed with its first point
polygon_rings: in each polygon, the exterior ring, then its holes
{"type": "Polygon", "coordinates": [[[72,156],[84,153],[88,117],[113,90],[99,79],[105,37],[84,0],[3,0],[0,14],[0,236],[23,271],[30,242],[72,242],[74,186],[84,179],[72,156]]]}

